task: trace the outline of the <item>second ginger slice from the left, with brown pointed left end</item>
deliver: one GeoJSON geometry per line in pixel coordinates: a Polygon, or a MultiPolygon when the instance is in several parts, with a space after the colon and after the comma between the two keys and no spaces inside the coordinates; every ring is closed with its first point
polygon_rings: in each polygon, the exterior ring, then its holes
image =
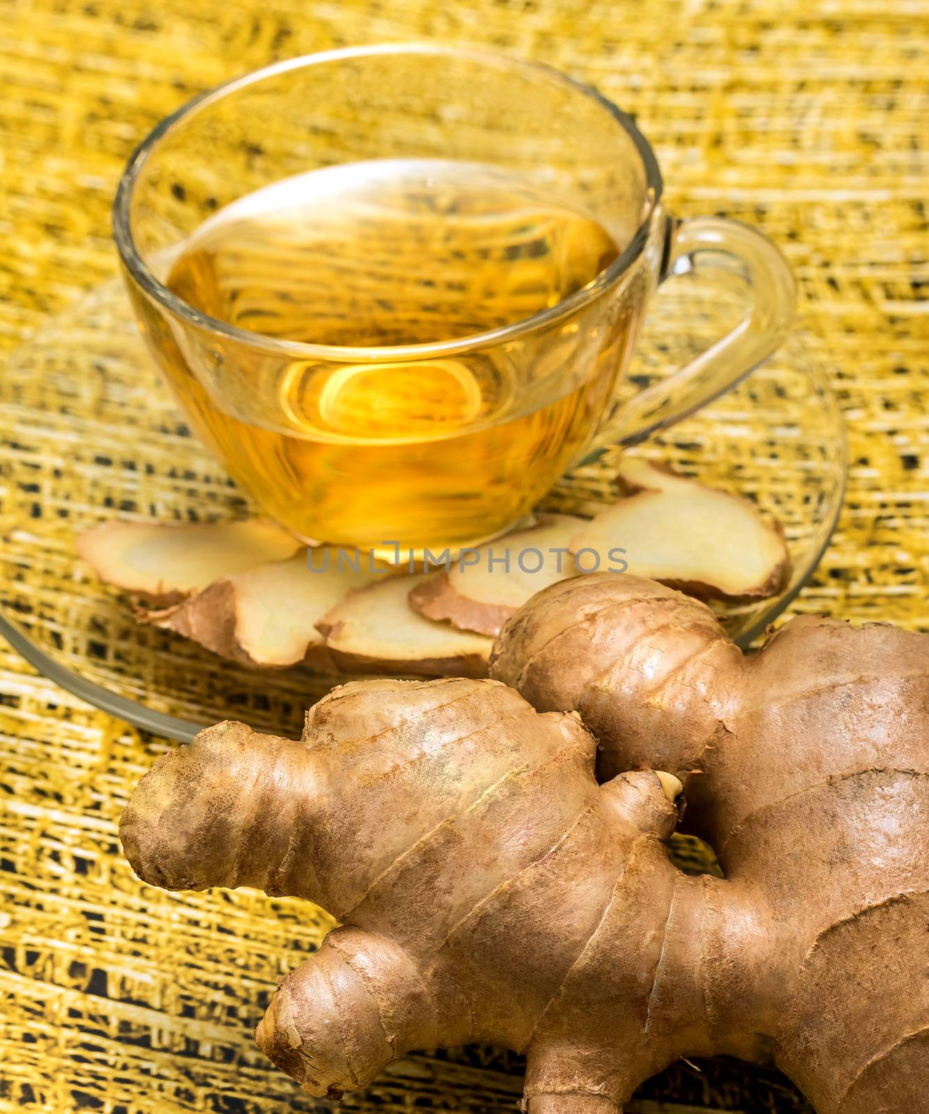
{"type": "Polygon", "coordinates": [[[343,596],[380,573],[342,567],[338,550],[302,549],[290,560],[223,577],[205,590],[145,618],[246,665],[296,665],[324,658],[316,624],[343,596]]]}

